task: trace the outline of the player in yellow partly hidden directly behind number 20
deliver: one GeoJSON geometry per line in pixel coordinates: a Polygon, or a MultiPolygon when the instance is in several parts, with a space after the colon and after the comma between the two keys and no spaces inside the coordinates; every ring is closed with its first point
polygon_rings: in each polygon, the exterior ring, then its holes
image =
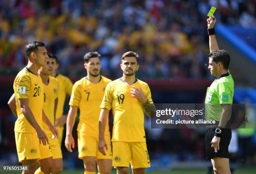
{"type": "MultiPolygon", "coordinates": [[[[56,109],[58,104],[58,90],[59,82],[56,78],[51,77],[52,66],[54,65],[53,58],[46,60],[46,66],[39,69],[39,76],[44,83],[44,106],[43,110],[51,124],[55,125],[56,109]]],[[[60,174],[63,170],[62,154],[59,140],[57,137],[52,137],[51,131],[49,131],[46,124],[43,123],[43,130],[45,131],[49,144],[51,147],[51,154],[53,158],[52,174],[60,174]]],[[[41,154],[41,158],[44,159],[44,154],[41,154]]]]}

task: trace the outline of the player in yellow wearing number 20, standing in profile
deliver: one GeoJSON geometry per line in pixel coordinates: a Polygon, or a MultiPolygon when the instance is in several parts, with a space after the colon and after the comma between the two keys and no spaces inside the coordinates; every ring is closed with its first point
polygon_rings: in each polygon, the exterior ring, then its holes
{"type": "Polygon", "coordinates": [[[23,174],[49,174],[52,170],[52,155],[48,138],[42,130],[42,121],[54,136],[58,136],[58,130],[44,114],[44,85],[37,73],[40,67],[45,66],[48,55],[44,43],[41,42],[34,41],[25,48],[28,65],[16,76],[13,84],[15,98],[9,101],[16,102],[12,106],[17,106],[16,111],[12,111],[18,116],[14,128],[18,159],[29,167],[29,171],[23,171],[23,174]],[[42,154],[44,159],[41,159],[42,154]],[[41,167],[36,170],[37,160],[41,167]]]}

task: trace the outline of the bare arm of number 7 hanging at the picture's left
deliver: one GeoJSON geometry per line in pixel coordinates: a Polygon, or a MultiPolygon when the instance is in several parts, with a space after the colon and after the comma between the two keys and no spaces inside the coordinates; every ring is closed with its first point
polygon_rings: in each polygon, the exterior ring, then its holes
{"type": "Polygon", "coordinates": [[[67,130],[66,130],[66,139],[65,139],[65,146],[69,152],[72,152],[72,148],[74,149],[74,138],[72,135],[72,130],[74,127],[74,121],[77,116],[77,109],[76,106],[70,106],[69,113],[67,116],[67,130]]]}

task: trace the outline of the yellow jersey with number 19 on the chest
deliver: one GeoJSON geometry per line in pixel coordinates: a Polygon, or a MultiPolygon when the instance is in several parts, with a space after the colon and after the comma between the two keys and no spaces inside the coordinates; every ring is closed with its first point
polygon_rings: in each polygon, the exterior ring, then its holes
{"type": "Polygon", "coordinates": [[[151,92],[147,83],[136,79],[135,83],[128,85],[122,78],[108,83],[101,108],[114,112],[114,125],[112,141],[142,142],[146,141],[144,130],[143,105],[131,96],[131,88],[141,87],[148,101],[153,103],[151,92]]]}

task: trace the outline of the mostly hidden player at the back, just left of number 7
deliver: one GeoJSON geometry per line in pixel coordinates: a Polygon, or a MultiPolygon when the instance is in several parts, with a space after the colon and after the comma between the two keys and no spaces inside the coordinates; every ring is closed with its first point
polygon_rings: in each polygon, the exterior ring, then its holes
{"type": "Polygon", "coordinates": [[[59,67],[59,61],[56,55],[48,54],[49,58],[52,58],[54,63],[52,64],[52,73],[51,76],[55,77],[59,81],[59,90],[58,90],[58,106],[56,111],[56,128],[59,131],[59,144],[61,145],[64,124],[66,124],[67,116],[63,114],[64,104],[66,96],[71,96],[72,93],[72,81],[62,74],[56,73],[56,69],[59,67]]]}

